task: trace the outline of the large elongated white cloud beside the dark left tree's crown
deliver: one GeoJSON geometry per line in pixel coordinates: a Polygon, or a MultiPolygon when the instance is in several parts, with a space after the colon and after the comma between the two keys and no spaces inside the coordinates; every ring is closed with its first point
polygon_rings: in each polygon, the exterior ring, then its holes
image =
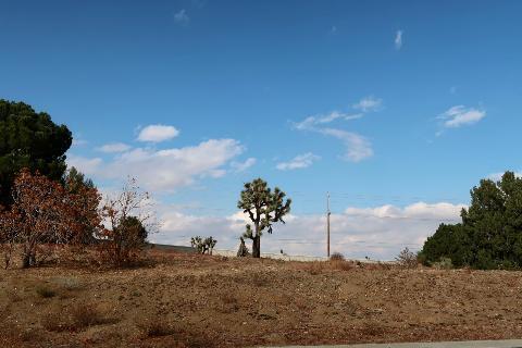
{"type": "Polygon", "coordinates": [[[148,190],[172,191],[201,177],[221,177],[223,166],[243,153],[244,147],[234,139],[210,139],[197,146],[153,150],[136,148],[116,154],[112,160],[71,157],[75,165],[94,178],[124,179],[130,175],[148,190]]]}

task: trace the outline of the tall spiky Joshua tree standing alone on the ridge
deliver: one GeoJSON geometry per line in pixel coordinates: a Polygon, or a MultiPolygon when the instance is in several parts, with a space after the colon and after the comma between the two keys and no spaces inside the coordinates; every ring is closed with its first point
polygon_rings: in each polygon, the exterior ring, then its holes
{"type": "Polygon", "coordinates": [[[285,201],[285,192],[277,187],[272,190],[262,178],[245,184],[237,208],[248,213],[252,222],[247,224],[244,237],[252,239],[253,258],[261,257],[261,236],[263,232],[266,231],[272,234],[274,223],[285,223],[283,216],[290,212],[291,203],[291,199],[288,198],[285,201]]]}

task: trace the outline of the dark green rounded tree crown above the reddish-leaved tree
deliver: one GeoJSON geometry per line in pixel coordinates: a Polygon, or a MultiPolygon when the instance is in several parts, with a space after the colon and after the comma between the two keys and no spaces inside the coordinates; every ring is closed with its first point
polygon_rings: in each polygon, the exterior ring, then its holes
{"type": "Polygon", "coordinates": [[[11,187],[23,167],[60,181],[72,140],[67,127],[54,124],[49,114],[0,99],[0,204],[11,203],[11,187]]]}

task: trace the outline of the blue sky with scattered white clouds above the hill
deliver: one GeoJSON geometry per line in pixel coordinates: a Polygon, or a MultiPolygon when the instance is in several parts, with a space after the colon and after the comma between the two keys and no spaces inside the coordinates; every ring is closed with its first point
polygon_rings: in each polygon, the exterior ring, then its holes
{"type": "Polygon", "coordinates": [[[520,171],[520,1],[0,0],[0,98],[69,165],[153,197],[157,243],[235,249],[256,177],[293,199],[261,250],[393,259],[520,171]]]}

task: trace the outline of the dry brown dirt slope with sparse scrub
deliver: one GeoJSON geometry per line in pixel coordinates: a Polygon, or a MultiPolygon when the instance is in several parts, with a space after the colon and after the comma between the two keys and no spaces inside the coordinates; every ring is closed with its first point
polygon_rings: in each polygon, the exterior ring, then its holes
{"type": "Polygon", "coordinates": [[[522,273],[154,254],[0,271],[1,347],[249,347],[522,337],[522,273]]]}

